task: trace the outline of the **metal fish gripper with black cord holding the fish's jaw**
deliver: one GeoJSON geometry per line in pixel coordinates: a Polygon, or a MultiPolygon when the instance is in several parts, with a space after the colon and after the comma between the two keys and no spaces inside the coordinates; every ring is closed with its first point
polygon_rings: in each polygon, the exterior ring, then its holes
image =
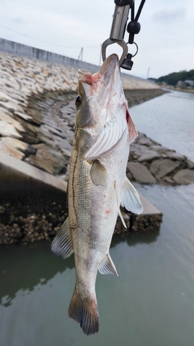
{"type": "Polygon", "coordinates": [[[133,61],[131,60],[137,54],[138,46],[134,42],[135,34],[138,34],[141,25],[138,22],[139,15],[142,12],[146,0],[142,0],[137,11],[137,15],[134,16],[135,12],[135,0],[115,0],[115,12],[113,15],[112,27],[110,30],[110,37],[104,41],[101,45],[101,56],[102,60],[106,60],[106,48],[110,44],[119,44],[123,48],[122,56],[119,59],[119,66],[122,69],[131,70],[133,61]],[[131,20],[127,25],[128,13],[131,10],[131,20]],[[125,30],[129,33],[128,42],[124,41],[125,30]],[[135,44],[137,51],[134,55],[128,53],[127,44],[135,44]]]}

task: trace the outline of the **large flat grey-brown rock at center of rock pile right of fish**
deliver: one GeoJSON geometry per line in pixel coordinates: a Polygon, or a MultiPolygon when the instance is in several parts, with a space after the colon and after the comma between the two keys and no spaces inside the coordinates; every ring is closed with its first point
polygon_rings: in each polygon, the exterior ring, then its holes
{"type": "Polygon", "coordinates": [[[164,176],[172,173],[177,167],[179,167],[179,161],[172,161],[168,158],[153,161],[150,166],[151,173],[157,178],[163,178],[164,176]]]}

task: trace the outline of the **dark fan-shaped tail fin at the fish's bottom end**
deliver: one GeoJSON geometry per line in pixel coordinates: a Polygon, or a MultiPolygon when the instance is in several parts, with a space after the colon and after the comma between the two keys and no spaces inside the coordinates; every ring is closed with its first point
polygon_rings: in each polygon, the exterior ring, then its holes
{"type": "Polygon", "coordinates": [[[81,298],[76,288],[70,301],[68,316],[80,323],[84,334],[95,334],[99,330],[96,298],[81,298]]]}

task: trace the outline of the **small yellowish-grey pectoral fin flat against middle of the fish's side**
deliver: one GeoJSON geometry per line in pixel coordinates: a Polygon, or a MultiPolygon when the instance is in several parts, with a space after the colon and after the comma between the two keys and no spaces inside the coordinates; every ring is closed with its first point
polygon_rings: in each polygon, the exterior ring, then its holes
{"type": "Polygon", "coordinates": [[[108,174],[106,172],[106,168],[101,165],[101,163],[96,160],[91,169],[90,169],[90,177],[95,185],[107,186],[108,184],[108,174]]]}

